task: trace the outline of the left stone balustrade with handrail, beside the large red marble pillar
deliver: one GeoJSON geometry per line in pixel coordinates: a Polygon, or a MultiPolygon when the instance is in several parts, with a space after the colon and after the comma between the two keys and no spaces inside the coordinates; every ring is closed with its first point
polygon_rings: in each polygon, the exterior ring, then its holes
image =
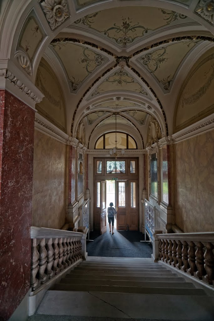
{"type": "Polygon", "coordinates": [[[79,232],[30,227],[30,287],[48,280],[86,256],[86,235],[79,232]]]}

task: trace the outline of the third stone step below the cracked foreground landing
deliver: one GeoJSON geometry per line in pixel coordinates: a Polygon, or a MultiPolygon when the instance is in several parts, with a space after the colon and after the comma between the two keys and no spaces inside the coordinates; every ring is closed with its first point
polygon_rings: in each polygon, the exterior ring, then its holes
{"type": "MultiPolygon", "coordinates": [[[[153,275],[153,273],[151,273],[153,275]]],[[[185,282],[184,278],[180,278],[177,274],[167,274],[167,276],[148,276],[146,273],[144,277],[139,276],[124,276],[124,275],[92,275],[92,274],[67,274],[66,279],[75,279],[75,280],[124,280],[124,281],[154,281],[154,282],[185,282]]]]}

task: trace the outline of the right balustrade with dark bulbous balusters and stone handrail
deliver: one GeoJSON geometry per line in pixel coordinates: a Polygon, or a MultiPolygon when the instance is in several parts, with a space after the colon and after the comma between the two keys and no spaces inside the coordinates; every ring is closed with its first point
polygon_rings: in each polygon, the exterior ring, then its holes
{"type": "Polygon", "coordinates": [[[214,232],[155,234],[155,258],[213,284],[214,232]]]}

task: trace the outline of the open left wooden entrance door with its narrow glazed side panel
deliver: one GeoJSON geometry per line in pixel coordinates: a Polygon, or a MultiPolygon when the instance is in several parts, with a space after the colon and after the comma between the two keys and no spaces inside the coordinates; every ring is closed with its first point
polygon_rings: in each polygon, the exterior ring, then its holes
{"type": "Polygon", "coordinates": [[[95,230],[100,234],[106,232],[106,181],[95,181],[95,230]]]}

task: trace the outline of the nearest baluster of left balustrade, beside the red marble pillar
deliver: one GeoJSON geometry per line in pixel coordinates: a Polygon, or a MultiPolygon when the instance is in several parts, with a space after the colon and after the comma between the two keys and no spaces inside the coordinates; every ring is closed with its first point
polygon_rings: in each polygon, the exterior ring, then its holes
{"type": "Polygon", "coordinates": [[[39,280],[36,278],[39,271],[39,252],[37,251],[37,239],[31,239],[31,260],[30,260],[30,286],[35,290],[39,280]]]}

